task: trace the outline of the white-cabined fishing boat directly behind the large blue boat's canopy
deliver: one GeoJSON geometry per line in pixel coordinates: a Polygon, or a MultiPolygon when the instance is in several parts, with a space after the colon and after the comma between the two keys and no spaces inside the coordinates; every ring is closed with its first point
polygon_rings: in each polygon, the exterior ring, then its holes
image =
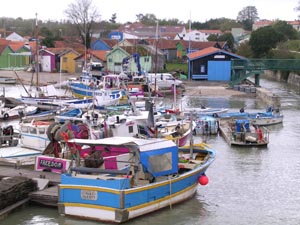
{"type": "MultiPolygon", "coordinates": [[[[133,106],[133,105],[132,105],[133,106]]],[[[111,136],[139,136],[143,138],[166,138],[178,146],[186,145],[196,124],[171,114],[155,114],[154,103],[149,102],[147,111],[136,108],[121,115],[112,115],[105,121],[107,133],[111,136]]]]}

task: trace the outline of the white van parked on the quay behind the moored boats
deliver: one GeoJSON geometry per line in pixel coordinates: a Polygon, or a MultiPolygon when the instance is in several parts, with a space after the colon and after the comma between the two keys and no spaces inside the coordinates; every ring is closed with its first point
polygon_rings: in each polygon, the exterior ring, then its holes
{"type": "Polygon", "coordinates": [[[182,84],[181,80],[177,80],[170,73],[148,73],[146,74],[146,78],[149,80],[151,84],[155,84],[159,88],[171,88],[172,86],[180,86],[182,84]]]}

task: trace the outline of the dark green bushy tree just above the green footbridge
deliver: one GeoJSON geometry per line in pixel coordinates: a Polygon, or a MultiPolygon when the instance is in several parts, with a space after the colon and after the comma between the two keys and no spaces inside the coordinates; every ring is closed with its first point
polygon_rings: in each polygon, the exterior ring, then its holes
{"type": "Polygon", "coordinates": [[[284,36],[273,27],[267,26],[252,32],[249,44],[254,57],[265,57],[277,43],[284,40],[284,36]]]}

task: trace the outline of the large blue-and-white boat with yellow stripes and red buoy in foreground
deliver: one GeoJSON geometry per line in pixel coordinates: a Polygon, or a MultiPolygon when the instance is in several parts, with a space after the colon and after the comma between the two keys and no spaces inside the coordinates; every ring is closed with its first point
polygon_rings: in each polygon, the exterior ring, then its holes
{"type": "Polygon", "coordinates": [[[139,216],[171,207],[190,199],[208,178],[207,168],[215,159],[208,146],[178,148],[164,139],[112,137],[100,140],[72,139],[74,145],[128,149],[115,168],[71,167],[61,175],[59,213],[96,220],[123,223],[139,216]]]}

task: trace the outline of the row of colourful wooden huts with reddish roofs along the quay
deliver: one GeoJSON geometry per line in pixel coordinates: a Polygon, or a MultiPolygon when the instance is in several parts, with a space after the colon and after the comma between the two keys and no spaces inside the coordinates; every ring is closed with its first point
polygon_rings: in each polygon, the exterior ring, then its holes
{"type": "Polygon", "coordinates": [[[129,60],[128,71],[162,71],[166,62],[189,63],[189,79],[230,80],[230,60],[242,58],[230,52],[225,42],[188,42],[167,39],[95,39],[90,49],[78,42],[57,41],[55,48],[39,47],[37,41],[0,39],[0,69],[31,68],[38,53],[39,70],[81,73],[90,62],[98,73],[121,72],[129,60]],[[37,49],[38,46],[38,49],[37,49]],[[37,51],[38,50],[38,51],[37,51]],[[136,56],[137,57],[133,57],[136,56]],[[138,60],[138,61],[137,61],[138,60]]]}

